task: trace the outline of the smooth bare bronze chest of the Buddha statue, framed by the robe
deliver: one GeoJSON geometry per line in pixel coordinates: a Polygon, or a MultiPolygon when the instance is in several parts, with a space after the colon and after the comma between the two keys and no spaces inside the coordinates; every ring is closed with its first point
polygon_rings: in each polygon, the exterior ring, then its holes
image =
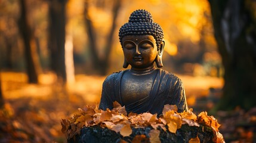
{"type": "Polygon", "coordinates": [[[134,75],[124,73],[121,79],[121,99],[124,105],[132,104],[143,98],[147,98],[152,91],[155,73],[146,75],[134,75]]]}

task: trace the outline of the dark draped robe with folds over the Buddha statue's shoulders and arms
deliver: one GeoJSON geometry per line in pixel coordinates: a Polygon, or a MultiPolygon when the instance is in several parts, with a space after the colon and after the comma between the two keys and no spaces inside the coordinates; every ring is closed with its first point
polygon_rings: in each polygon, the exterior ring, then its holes
{"type": "MultiPolygon", "coordinates": [[[[112,109],[113,102],[118,101],[124,106],[121,98],[121,79],[124,71],[110,74],[103,82],[103,89],[101,93],[100,109],[112,109]]],[[[184,91],[184,86],[181,80],[173,73],[157,69],[155,81],[149,96],[125,105],[127,113],[145,113],[149,111],[152,114],[162,114],[165,104],[177,105],[178,112],[187,110],[187,101],[184,91]]]]}

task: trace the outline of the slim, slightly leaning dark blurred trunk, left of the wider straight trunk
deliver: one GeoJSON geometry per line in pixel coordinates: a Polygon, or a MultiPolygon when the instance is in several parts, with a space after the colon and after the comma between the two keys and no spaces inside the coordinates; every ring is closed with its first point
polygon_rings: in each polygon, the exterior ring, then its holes
{"type": "Polygon", "coordinates": [[[27,76],[29,77],[29,83],[38,83],[37,66],[39,66],[39,63],[38,61],[36,61],[36,56],[37,56],[36,43],[35,43],[35,38],[33,38],[32,30],[30,29],[30,26],[29,26],[25,0],[20,0],[20,11],[21,11],[21,14],[20,14],[19,28],[20,28],[20,33],[24,42],[27,76]]]}

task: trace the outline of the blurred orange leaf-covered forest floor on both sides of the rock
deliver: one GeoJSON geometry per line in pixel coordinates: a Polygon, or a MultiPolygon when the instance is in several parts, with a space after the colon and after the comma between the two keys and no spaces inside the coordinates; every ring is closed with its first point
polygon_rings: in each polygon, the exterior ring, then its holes
{"type": "MultiPolygon", "coordinates": [[[[209,111],[221,95],[217,77],[178,75],[187,102],[196,114],[209,111]]],[[[76,82],[61,85],[54,74],[41,74],[39,84],[27,84],[24,73],[1,73],[4,109],[0,110],[0,142],[66,142],[61,119],[73,116],[85,104],[99,104],[105,77],[76,75],[76,82]]],[[[256,108],[218,111],[220,132],[227,142],[256,142],[256,108]]]]}

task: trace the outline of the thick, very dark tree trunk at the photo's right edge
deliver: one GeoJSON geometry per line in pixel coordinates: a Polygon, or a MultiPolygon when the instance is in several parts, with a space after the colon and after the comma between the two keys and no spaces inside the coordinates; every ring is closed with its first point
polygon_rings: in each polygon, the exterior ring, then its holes
{"type": "MultiPolygon", "coordinates": [[[[249,2],[249,1],[246,1],[249,2]]],[[[256,24],[245,1],[209,0],[224,66],[223,96],[215,110],[246,110],[256,101],[256,24]]]]}

